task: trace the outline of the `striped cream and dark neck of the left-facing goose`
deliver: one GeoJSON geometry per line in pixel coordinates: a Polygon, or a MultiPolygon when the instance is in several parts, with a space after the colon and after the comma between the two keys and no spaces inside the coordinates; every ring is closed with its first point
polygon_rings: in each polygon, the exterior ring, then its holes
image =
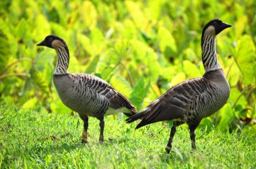
{"type": "Polygon", "coordinates": [[[57,64],[55,67],[54,74],[68,74],[67,69],[69,68],[69,49],[66,45],[55,48],[57,52],[57,64]]]}

